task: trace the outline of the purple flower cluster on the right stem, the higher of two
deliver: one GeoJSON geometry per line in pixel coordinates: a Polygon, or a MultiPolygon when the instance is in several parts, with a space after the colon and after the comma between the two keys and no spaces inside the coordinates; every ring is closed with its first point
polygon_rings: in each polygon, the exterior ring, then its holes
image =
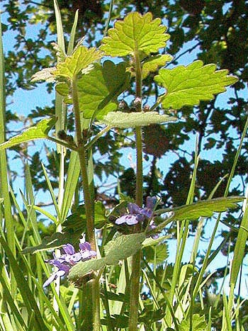
{"type": "Polygon", "coordinates": [[[140,223],[140,225],[142,225],[142,228],[144,228],[144,225],[148,221],[150,221],[150,229],[155,228],[155,225],[153,224],[154,221],[151,220],[151,218],[156,203],[157,203],[157,198],[155,196],[147,197],[145,208],[141,208],[137,206],[136,203],[128,203],[129,213],[120,216],[120,218],[117,218],[117,220],[115,220],[115,224],[135,225],[137,223],[140,223]]]}

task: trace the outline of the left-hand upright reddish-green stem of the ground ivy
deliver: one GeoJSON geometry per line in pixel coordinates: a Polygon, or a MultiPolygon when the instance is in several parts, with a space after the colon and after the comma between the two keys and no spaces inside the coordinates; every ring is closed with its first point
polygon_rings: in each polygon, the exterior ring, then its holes
{"type": "MultiPolygon", "coordinates": [[[[79,99],[77,92],[77,77],[72,79],[72,99],[74,105],[74,118],[75,118],[75,130],[76,130],[76,139],[77,139],[77,152],[79,155],[79,164],[81,168],[82,184],[84,191],[84,206],[86,214],[86,240],[90,242],[91,249],[96,250],[95,234],[94,234],[94,210],[93,210],[93,201],[91,201],[91,192],[89,189],[89,176],[86,163],[86,149],[84,136],[81,132],[81,118],[79,111],[79,99]]],[[[84,328],[84,331],[100,331],[101,321],[100,321],[100,310],[99,310],[99,286],[98,280],[93,279],[86,286],[86,301],[87,301],[87,313],[86,316],[87,327],[84,328]]]]}

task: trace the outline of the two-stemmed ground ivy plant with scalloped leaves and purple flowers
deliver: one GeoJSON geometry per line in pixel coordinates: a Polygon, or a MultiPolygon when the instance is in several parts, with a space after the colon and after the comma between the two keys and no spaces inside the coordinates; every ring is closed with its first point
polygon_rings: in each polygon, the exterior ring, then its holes
{"type": "MultiPolygon", "coordinates": [[[[132,260],[128,285],[128,330],[136,331],[140,323],[142,249],[162,242],[162,231],[171,222],[209,217],[214,212],[235,208],[236,203],[242,201],[239,197],[218,198],[171,209],[158,209],[159,200],[156,197],[149,197],[146,204],[143,203],[142,127],[159,123],[174,125],[180,119],[171,116],[171,110],[175,113],[174,110],[183,106],[195,106],[200,101],[213,99],[216,94],[225,91],[225,86],[237,81],[236,77],[228,75],[227,70],[216,70],[215,64],[204,65],[201,61],[188,66],[165,68],[172,60],[171,55],[160,52],[169,40],[166,30],[161,20],[152,18],[151,13],[142,16],[132,12],[123,21],[115,22],[101,40],[99,49],[86,47],[84,40],[79,41],[74,49],[71,43],[71,50],[67,53],[61,45],[55,45],[57,65],[37,72],[33,82],[45,80],[55,83],[57,95],[74,113],[74,137],[65,130],[57,131],[57,136],[50,134],[58,118],[45,118],[0,146],[5,149],[28,140],[51,140],[60,148],[71,150],[79,162],[84,193],[84,206],[79,208],[81,215],[84,215],[83,220],[77,217],[77,213],[68,216],[69,207],[64,208],[63,211],[67,211],[64,218],[67,220],[63,220],[60,231],[45,238],[39,246],[27,247],[24,253],[57,249],[59,254],[55,253],[53,259],[46,260],[55,267],[55,271],[45,281],[44,288],[61,276],[67,276],[80,288],[89,285],[85,292],[90,306],[87,310],[89,322],[84,330],[101,329],[99,282],[105,268],[122,260],[132,260]],[[143,106],[142,80],[149,75],[154,77],[154,84],[159,86],[161,94],[154,104],[143,106]],[[123,93],[129,91],[130,86],[135,86],[130,102],[132,106],[123,111],[120,106],[123,93]],[[96,135],[94,125],[101,126],[101,131],[96,135]],[[120,205],[106,211],[102,203],[94,201],[89,169],[92,169],[92,147],[112,128],[133,129],[137,155],[136,198],[131,201],[128,197],[122,197],[120,205]],[[105,230],[111,235],[103,242],[100,254],[95,231],[106,225],[105,230]],[[77,231],[72,232],[68,228],[77,228],[77,231]],[[77,250],[72,243],[79,241],[82,233],[86,235],[86,241],[77,244],[77,250]]],[[[183,326],[180,330],[186,330],[183,326]]]]}

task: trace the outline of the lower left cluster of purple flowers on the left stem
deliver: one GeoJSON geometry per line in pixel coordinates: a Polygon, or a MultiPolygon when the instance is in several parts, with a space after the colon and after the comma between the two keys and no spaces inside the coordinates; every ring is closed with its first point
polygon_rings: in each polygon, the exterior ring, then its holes
{"type": "Polygon", "coordinates": [[[75,249],[71,244],[63,245],[60,257],[56,257],[55,253],[53,253],[54,259],[45,261],[52,264],[52,266],[57,267],[57,271],[53,272],[47,281],[45,281],[43,288],[51,284],[52,281],[55,281],[58,277],[67,276],[67,274],[69,274],[69,269],[77,264],[77,262],[86,261],[95,256],[96,252],[91,250],[89,242],[80,242],[78,252],[75,252],[75,249]]]}

